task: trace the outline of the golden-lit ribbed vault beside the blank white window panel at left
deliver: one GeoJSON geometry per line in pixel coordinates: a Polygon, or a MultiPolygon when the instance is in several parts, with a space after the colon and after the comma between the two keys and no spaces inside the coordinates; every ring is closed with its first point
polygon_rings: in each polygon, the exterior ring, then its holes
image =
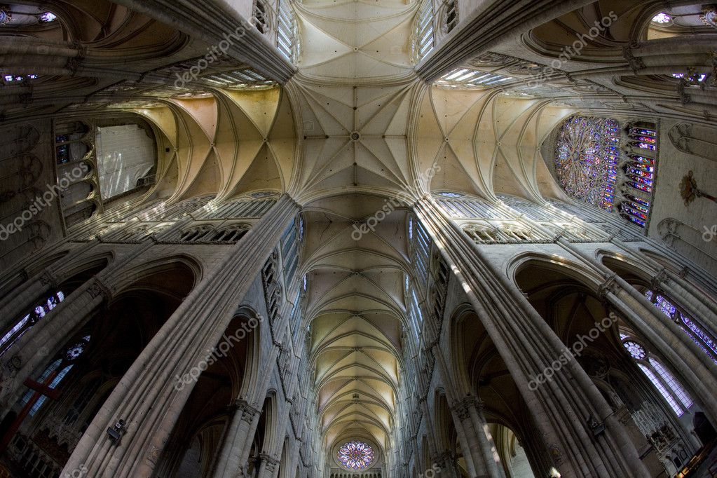
{"type": "Polygon", "coordinates": [[[212,93],[134,110],[156,125],[168,144],[158,189],[172,191],[169,201],[286,191],[295,157],[286,95],[278,87],[212,93]]]}

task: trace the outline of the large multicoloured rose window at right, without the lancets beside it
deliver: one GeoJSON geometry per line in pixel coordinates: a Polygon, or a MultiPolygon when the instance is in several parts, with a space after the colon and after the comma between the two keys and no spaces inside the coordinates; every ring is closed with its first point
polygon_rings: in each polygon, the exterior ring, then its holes
{"type": "Polygon", "coordinates": [[[574,116],[560,132],[556,174],[576,199],[612,211],[620,132],[617,120],[574,116]]]}

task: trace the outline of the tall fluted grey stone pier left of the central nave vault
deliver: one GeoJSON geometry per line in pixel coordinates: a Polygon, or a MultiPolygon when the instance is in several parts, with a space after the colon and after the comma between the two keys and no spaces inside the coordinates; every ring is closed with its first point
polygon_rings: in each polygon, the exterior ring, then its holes
{"type": "Polygon", "coordinates": [[[82,464],[92,476],[151,476],[192,390],[176,390],[175,377],[191,370],[217,344],[297,211],[293,199],[282,196],[206,273],[115,387],[72,453],[67,472],[82,464]],[[105,429],[119,418],[127,421],[127,432],[113,446],[105,429]]]}

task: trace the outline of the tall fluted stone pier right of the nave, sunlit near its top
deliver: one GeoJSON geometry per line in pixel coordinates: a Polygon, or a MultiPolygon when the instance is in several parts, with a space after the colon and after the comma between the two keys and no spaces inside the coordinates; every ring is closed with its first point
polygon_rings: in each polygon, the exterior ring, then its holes
{"type": "Polygon", "coordinates": [[[542,386],[529,387],[528,376],[550,368],[563,353],[564,344],[521,291],[493,268],[431,196],[417,201],[414,211],[462,282],[531,410],[546,448],[551,449],[559,472],[571,477],[648,477],[625,427],[612,416],[612,408],[575,360],[569,360],[542,386]],[[595,434],[590,424],[595,419],[605,426],[601,434],[595,434]]]}

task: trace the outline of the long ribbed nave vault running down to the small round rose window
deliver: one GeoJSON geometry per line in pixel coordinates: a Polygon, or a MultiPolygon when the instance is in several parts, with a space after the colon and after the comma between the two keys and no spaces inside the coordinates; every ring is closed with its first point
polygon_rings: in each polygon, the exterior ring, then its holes
{"type": "Polygon", "coordinates": [[[407,212],[359,237],[353,227],[385,204],[346,194],[305,207],[311,359],[327,451],[340,439],[391,448],[400,387],[407,212]],[[358,240],[356,240],[358,239],[358,240]]]}

